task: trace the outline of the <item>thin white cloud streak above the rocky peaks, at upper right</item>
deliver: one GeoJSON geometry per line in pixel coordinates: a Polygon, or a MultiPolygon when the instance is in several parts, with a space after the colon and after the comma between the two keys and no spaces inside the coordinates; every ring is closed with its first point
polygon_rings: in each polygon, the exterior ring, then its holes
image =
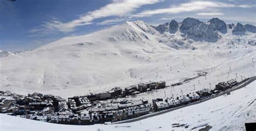
{"type": "MultiPolygon", "coordinates": [[[[154,14],[163,14],[163,13],[181,13],[181,12],[190,12],[190,11],[200,11],[206,10],[209,8],[249,8],[250,5],[234,5],[227,4],[223,2],[211,2],[211,1],[191,1],[188,3],[182,3],[179,5],[172,5],[170,8],[156,9],[156,10],[145,10],[138,14],[134,14],[133,17],[149,17],[154,14]]],[[[251,6],[250,6],[251,7],[251,6]]]]}

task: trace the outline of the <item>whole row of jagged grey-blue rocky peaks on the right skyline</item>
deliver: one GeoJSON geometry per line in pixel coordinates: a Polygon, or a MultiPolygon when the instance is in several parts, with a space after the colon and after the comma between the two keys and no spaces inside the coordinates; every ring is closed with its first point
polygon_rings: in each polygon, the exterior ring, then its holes
{"type": "Polygon", "coordinates": [[[232,30],[234,35],[244,35],[246,31],[251,33],[256,32],[256,27],[253,25],[242,25],[240,23],[226,25],[226,23],[219,18],[212,18],[207,22],[204,22],[188,17],[180,24],[177,23],[177,21],[172,20],[171,23],[165,23],[154,28],[156,28],[160,34],[165,32],[174,34],[179,29],[181,35],[186,35],[188,38],[195,41],[207,42],[217,42],[218,39],[221,38],[221,35],[218,32],[226,34],[228,33],[228,28],[232,30]]]}

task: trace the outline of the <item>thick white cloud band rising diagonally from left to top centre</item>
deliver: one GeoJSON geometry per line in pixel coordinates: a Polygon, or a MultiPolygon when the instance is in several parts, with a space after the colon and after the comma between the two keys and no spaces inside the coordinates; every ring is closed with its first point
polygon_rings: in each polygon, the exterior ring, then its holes
{"type": "MultiPolygon", "coordinates": [[[[92,21],[95,19],[111,16],[123,17],[140,8],[140,6],[154,4],[157,2],[160,2],[160,0],[113,0],[112,3],[107,4],[98,10],[87,12],[81,15],[78,19],[74,19],[66,23],[60,20],[52,20],[50,22],[46,22],[42,26],[44,30],[58,30],[64,33],[72,32],[78,26],[92,24],[92,21]]],[[[35,29],[40,30],[39,28],[35,29]]],[[[35,30],[32,29],[30,32],[33,31],[35,30]]]]}

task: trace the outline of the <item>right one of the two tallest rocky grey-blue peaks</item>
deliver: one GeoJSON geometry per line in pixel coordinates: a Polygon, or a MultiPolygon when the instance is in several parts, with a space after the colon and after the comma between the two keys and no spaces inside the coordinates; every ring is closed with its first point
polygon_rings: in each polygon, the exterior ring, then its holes
{"type": "Polygon", "coordinates": [[[227,25],[223,20],[219,18],[212,18],[208,22],[210,22],[214,31],[219,31],[221,33],[227,33],[227,25]]]}

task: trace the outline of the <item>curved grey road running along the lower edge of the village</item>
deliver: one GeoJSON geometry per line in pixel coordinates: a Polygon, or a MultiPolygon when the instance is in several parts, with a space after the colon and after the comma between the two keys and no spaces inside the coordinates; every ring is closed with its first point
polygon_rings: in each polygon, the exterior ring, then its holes
{"type": "Polygon", "coordinates": [[[191,106],[191,105],[203,103],[204,101],[207,101],[207,100],[210,100],[210,99],[222,96],[223,94],[226,94],[226,92],[232,92],[232,91],[244,88],[246,85],[250,84],[251,82],[253,82],[255,80],[256,80],[256,76],[253,76],[251,78],[248,78],[248,80],[245,81],[244,83],[241,83],[241,84],[239,84],[239,85],[237,85],[237,86],[235,86],[235,87],[233,87],[231,89],[228,89],[225,92],[220,92],[219,94],[217,94],[217,95],[215,95],[213,97],[206,98],[206,99],[203,99],[203,100],[199,100],[199,101],[196,101],[194,103],[190,103],[190,104],[187,104],[187,105],[184,105],[184,106],[179,106],[179,107],[169,108],[169,109],[166,109],[166,110],[163,110],[163,111],[159,111],[159,112],[149,113],[149,114],[146,114],[146,115],[142,115],[141,117],[138,117],[138,118],[133,118],[133,119],[127,119],[127,120],[123,120],[123,121],[112,122],[111,124],[128,123],[128,122],[139,121],[139,120],[147,119],[147,118],[150,118],[150,117],[154,117],[156,115],[160,115],[160,114],[164,114],[164,113],[171,112],[171,111],[174,111],[174,110],[178,110],[179,108],[183,108],[183,107],[186,107],[186,106],[191,106]]]}

